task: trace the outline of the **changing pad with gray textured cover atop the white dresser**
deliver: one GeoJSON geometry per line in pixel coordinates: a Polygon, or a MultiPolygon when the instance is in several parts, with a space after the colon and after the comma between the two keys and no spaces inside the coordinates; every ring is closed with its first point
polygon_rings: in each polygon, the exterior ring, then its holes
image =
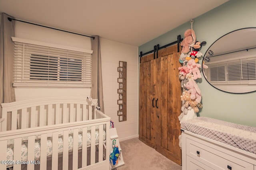
{"type": "Polygon", "coordinates": [[[239,125],[209,117],[181,123],[182,129],[256,154],[256,127],[239,125]]]}

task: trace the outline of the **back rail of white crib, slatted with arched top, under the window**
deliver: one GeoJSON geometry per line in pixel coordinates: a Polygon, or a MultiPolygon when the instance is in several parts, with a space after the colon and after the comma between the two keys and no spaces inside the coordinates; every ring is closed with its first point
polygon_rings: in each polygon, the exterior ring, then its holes
{"type": "Polygon", "coordinates": [[[42,127],[76,121],[103,118],[96,108],[95,102],[88,102],[84,98],[40,98],[12,103],[3,103],[2,123],[0,131],[42,127]],[[7,115],[11,114],[11,118],[7,115]],[[11,122],[11,129],[7,128],[11,122]]]}

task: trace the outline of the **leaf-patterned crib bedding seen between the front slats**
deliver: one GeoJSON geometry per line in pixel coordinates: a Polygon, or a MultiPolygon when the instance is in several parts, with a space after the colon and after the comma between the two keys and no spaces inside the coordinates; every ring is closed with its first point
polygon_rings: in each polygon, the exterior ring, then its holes
{"type": "MultiPolygon", "coordinates": [[[[103,131],[103,141],[106,140],[106,132],[103,131]]],[[[95,131],[95,143],[99,142],[99,126],[96,126],[95,131]]],[[[90,127],[88,127],[87,131],[87,146],[91,145],[91,132],[90,127]]],[[[78,129],[78,149],[82,148],[82,129],[78,129]]],[[[69,131],[68,135],[68,150],[73,149],[73,129],[69,131]]],[[[6,160],[13,160],[14,155],[14,139],[10,139],[7,141],[7,156],[6,160]]],[[[58,138],[58,153],[63,152],[63,134],[59,134],[58,138]]],[[[47,156],[52,155],[52,137],[47,138],[47,156]]],[[[22,146],[21,146],[21,160],[27,161],[28,158],[28,137],[22,138],[22,146]]],[[[35,137],[35,160],[40,158],[40,135],[36,135],[35,137]]]]}

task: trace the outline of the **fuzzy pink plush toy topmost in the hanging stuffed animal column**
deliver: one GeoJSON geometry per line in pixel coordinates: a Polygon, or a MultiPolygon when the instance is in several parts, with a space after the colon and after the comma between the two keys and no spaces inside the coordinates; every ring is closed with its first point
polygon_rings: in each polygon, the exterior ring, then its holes
{"type": "Polygon", "coordinates": [[[182,46],[181,53],[190,52],[190,48],[194,45],[196,41],[196,34],[193,29],[187,29],[184,33],[184,39],[180,43],[182,46]]]}

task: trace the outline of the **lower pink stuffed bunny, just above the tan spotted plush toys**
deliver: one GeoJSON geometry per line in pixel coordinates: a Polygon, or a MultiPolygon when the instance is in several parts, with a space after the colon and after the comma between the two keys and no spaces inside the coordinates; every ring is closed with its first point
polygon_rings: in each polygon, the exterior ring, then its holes
{"type": "Polygon", "coordinates": [[[188,89],[188,93],[191,94],[191,99],[196,99],[196,103],[200,103],[202,96],[201,90],[199,89],[198,85],[196,84],[195,80],[190,80],[185,84],[186,88],[188,89]]]}

